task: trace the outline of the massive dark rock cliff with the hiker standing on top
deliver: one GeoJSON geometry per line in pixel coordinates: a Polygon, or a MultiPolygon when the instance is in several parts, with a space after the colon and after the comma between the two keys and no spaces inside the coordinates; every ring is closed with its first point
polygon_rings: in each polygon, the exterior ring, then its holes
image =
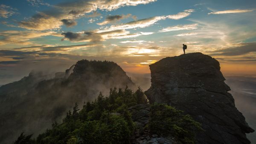
{"type": "Polygon", "coordinates": [[[150,65],[151,87],[145,91],[151,103],[167,103],[202,123],[200,144],[250,144],[252,133],[225,84],[219,62],[201,53],[166,57],[150,65]]]}

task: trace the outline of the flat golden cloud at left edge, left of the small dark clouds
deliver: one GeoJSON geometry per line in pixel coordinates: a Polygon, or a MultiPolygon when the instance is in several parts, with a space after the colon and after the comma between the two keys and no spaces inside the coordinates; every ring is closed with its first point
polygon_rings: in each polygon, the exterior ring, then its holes
{"type": "Polygon", "coordinates": [[[29,40],[33,38],[49,35],[61,37],[61,34],[58,34],[54,31],[2,31],[0,32],[0,35],[0,45],[5,45],[8,43],[29,45],[32,44],[32,42],[29,42],[29,40]]]}

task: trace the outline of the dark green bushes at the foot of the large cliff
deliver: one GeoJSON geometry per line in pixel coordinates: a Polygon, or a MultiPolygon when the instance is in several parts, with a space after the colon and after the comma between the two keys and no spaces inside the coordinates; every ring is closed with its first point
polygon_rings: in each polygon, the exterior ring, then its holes
{"type": "Polygon", "coordinates": [[[194,144],[195,133],[202,130],[201,124],[183,111],[167,104],[151,105],[149,129],[160,136],[174,136],[183,144],[194,144]]]}

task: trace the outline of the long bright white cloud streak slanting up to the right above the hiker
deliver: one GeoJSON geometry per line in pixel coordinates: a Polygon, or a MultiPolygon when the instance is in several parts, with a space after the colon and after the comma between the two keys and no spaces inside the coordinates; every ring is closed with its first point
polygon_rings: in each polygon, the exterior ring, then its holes
{"type": "Polygon", "coordinates": [[[165,20],[166,18],[173,19],[173,20],[178,20],[183,17],[187,17],[193,12],[194,10],[189,9],[185,10],[184,12],[180,12],[178,14],[174,15],[167,15],[167,16],[157,16],[157,17],[150,17],[146,19],[141,19],[141,20],[135,20],[131,21],[129,23],[124,23],[120,25],[111,25],[110,27],[105,27],[105,28],[100,28],[99,32],[105,32],[105,31],[113,31],[116,29],[134,29],[134,28],[145,28],[150,25],[153,25],[159,20],[165,20]]]}

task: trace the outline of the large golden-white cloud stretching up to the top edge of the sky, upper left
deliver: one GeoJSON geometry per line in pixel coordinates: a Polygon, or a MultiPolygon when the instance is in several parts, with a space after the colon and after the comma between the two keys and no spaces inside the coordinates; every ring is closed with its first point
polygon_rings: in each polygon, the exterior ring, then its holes
{"type": "MultiPolygon", "coordinates": [[[[75,0],[72,2],[60,3],[48,11],[41,11],[29,18],[19,22],[21,28],[31,30],[48,30],[61,28],[63,19],[77,19],[81,16],[88,17],[93,11],[112,11],[123,6],[137,6],[147,4],[156,0],[75,0]]],[[[93,15],[96,15],[93,13],[93,15]]]]}

